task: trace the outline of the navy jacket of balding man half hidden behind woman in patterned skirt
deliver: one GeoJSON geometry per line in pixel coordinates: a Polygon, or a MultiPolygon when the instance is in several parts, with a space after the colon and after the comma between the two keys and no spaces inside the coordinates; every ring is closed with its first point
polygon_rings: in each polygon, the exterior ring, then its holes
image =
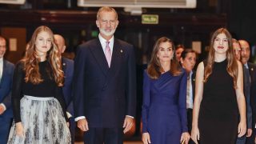
{"type": "Polygon", "coordinates": [[[74,61],[69,58],[62,58],[62,68],[64,71],[64,86],[62,87],[67,111],[74,115],[72,81],[74,73],[74,61]]]}

